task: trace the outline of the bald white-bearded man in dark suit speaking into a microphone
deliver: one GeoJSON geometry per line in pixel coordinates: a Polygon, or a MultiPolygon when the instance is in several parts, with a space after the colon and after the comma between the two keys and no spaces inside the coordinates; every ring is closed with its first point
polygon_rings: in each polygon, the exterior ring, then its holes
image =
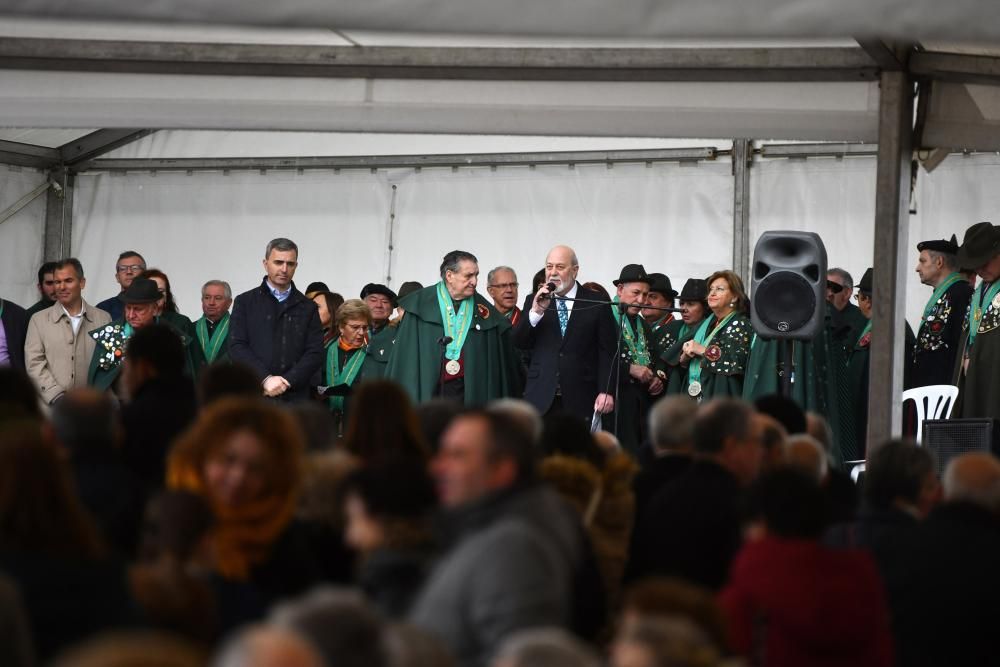
{"type": "Polygon", "coordinates": [[[580,265],[568,246],[545,259],[545,284],[524,301],[514,327],[514,345],[531,354],[524,400],[541,414],[568,412],[589,420],[607,413],[614,399],[605,393],[615,353],[615,322],[597,292],[576,282],[580,265]],[[548,284],[555,285],[550,290],[548,284]]]}

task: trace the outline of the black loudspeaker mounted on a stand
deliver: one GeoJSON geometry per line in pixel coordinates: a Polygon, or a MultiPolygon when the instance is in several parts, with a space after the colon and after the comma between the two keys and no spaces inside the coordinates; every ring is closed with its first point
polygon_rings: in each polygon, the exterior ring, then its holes
{"type": "Polygon", "coordinates": [[[813,232],[764,232],[753,249],[750,320],[765,338],[812,340],[826,303],[826,247],[813,232]]]}

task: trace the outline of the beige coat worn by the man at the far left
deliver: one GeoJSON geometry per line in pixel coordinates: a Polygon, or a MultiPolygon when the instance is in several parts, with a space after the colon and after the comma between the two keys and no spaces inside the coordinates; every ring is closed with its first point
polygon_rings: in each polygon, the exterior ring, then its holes
{"type": "Polygon", "coordinates": [[[31,316],[24,342],[24,365],[42,400],[51,403],[63,392],[87,386],[87,369],[97,345],[87,332],[110,321],[110,315],[86,301],[76,336],[69,316],[58,303],[31,316]]]}

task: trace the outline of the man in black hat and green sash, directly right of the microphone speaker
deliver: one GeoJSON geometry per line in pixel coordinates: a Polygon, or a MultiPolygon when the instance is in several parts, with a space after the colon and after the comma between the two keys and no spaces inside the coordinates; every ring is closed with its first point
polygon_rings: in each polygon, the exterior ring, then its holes
{"type": "Polygon", "coordinates": [[[627,264],[618,280],[618,292],[611,312],[621,338],[618,359],[618,397],[615,411],[605,418],[605,428],[613,430],[622,448],[638,456],[646,439],[646,424],[653,397],[663,393],[664,380],[656,374],[653,332],[639,317],[646,305],[652,278],[641,264],[627,264]],[[607,428],[608,426],[611,428],[607,428]]]}

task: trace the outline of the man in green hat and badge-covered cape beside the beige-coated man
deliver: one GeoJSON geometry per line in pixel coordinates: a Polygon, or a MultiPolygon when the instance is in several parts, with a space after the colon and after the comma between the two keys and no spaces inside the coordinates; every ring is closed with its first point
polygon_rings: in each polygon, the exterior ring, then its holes
{"type": "MultiPolygon", "coordinates": [[[[124,316],[87,333],[96,342],[87,371],[88,385],[100,391],[111,389],[121,395],[118,378],[125,360],[125,344],[136,331],[157,322],[156,304],[161,296],[155,282],[148,278],[136,278],[121,295],[124,316]]],[[[173,327],[171,330],[184,345],[187,372],[191,375],[191,340],[173,327]]]]}

